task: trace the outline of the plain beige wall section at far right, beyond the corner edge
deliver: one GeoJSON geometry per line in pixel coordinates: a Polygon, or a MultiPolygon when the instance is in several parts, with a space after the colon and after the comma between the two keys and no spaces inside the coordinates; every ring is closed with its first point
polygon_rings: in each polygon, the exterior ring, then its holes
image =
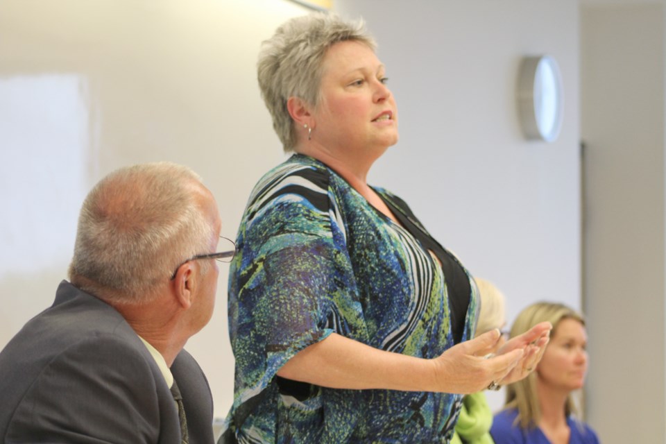
{"type": "Polygon", "coordinates": [[[581,8],[587,410],[604,443],[665,443],[666,8],[615,3],[581,8]]]}

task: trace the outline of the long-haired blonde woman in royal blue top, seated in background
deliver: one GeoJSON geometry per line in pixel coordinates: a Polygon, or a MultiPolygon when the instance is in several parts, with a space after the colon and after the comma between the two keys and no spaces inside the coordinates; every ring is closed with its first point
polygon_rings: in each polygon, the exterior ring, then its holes
{"type": "Polygon", "coordinates": [[[496,444],[597,444],[595,432],[574,417],[572,397],[588,370],[585,321],[565,305],[538,302],[518,314],[511,337],[543,321],[553,325],[543,359],[527,378],[506,386],[506,405],[490,434],[496,444]]]}

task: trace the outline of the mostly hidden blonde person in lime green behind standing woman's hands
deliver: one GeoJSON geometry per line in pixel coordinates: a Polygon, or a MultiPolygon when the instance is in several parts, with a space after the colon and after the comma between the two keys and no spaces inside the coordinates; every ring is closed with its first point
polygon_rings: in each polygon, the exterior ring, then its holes
{"type": "MultiPolygon", "coordinates": [[[[504,295],[491,282],[481,278],[474,280],[481,299],[476,336],[490,330],[501,330],[506,325],[504,295]]],[[[451,444],[493,444],[493,438],[490,437],[492,424],[493,412],[490,411],[484,391],[466,395],[451,444]]]]}

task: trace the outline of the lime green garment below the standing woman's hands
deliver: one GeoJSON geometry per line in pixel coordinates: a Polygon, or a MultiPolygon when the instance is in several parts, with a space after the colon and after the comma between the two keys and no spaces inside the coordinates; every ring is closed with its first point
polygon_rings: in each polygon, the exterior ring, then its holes
{"type": "Polygon", "coordinates": [[[466,395],[450,444],[494,444],[490,438],[492,424],[493,413],[484,392],[466,395]]]}

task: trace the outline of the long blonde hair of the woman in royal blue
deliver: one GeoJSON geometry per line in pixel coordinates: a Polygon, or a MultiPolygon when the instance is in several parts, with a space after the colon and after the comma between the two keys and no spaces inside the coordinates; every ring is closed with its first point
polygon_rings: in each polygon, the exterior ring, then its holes
{"type": "MultiPolygon", "coordinates": [[[[557,302],[537,302],[523,309],[515,318],[511,327],[511,337],[527,332],[534,325],[548,321],[553,325],[552,335],[557,334],[557,326],[563,319],[575,319],[585,325],[583,317],[574,309],[557,302]]],[[[536,391],[536,372],[526,378],[506,386],[506,408],[518,409],[516,420],[520,427],[535,427],[541,418],[539,400],[536,391]]],[[[576,404],[572,395],[567,398],[565,414],[576,413],[576,404]]]]}

